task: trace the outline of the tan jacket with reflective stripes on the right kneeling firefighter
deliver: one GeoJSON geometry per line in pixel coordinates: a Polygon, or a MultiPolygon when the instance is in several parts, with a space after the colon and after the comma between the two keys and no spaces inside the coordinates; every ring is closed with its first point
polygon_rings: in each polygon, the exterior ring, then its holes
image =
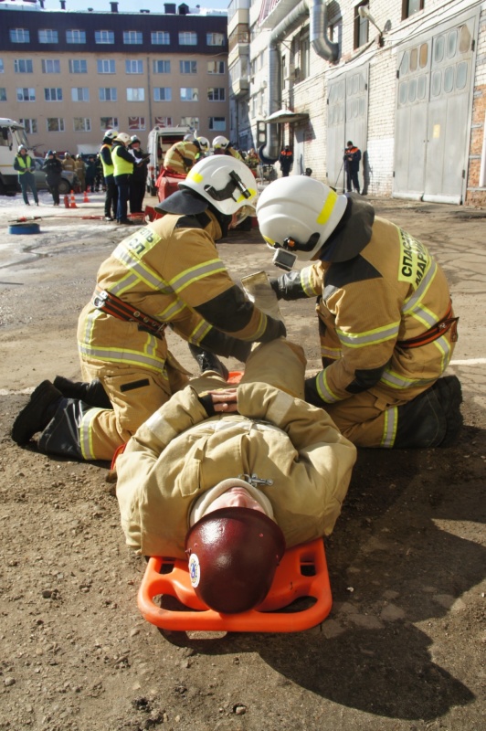
{"type": "Polygon", "coordinates": [[[446,316],[449,286],[428,249],[407,231],[379,217],[372,231],[353,260],[317,261],[301,270],[307,296],[322,295],[317,313],[326,367],[316,385],[329,404],[363,390],[410,400],[444,373],[454,350],[454,327],[430,344],[400,346],[446,316]]]}

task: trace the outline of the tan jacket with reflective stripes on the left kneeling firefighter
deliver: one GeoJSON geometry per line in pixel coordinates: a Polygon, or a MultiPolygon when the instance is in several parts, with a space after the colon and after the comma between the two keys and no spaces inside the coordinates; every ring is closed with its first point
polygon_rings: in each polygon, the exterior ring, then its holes
{"type": "MultiPolygon", "coordinates": [[[[227,293],[222,306],[215,302],[208,314],[211,322],[239,340],[271,339],[275,335],[266,333],[273,321],[243,302],[242,295],[238,301],[239,290],[214,243],[221,229],[216,217],[207,217],[206,228],[194,217],[172,215],[139,228],[101,264],[98,288],[161,323],[171,323],[194,344],[201,344],[212,330],[195,308],[227,293]]],[[[81,358],[92,365],[128,365],[160,373],[167,356],[164,336],[157,338],[138,323],[103,313],[92,301],[79,316],[78,341],[81,358]]]]}

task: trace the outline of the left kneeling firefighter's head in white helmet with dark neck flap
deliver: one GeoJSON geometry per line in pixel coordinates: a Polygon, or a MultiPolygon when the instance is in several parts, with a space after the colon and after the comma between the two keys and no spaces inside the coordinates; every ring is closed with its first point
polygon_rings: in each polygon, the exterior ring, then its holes
{"type": "Polygon", "coordinates": [[[255,216],[257,197],[255,178],[246,164],[234,157],[212,156],[196,163],[179,190],[155,210],[195,216],[209,208],[224,230],[255,216]]]}

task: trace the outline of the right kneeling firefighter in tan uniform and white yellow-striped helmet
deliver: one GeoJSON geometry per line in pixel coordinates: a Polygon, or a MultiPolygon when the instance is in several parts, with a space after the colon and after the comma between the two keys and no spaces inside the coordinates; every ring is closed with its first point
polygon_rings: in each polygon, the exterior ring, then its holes
{"type": "Polygon", "coordinates": [[[460,432],[456,376],[440,377],[457,339],[449,287],[428,249],[375,217],[357,196],[298,176],[278,180],[257,207],[278,297],[317,297],[323,370],[306,399],[359,447],[449,446],[460,432]]]}

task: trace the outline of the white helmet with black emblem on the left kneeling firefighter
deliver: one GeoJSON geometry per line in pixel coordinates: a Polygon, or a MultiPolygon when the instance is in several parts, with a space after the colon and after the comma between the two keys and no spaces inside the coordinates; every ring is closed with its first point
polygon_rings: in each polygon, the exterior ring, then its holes
{"type": "Polygon", "coordinates": [[[234,157],[205,157],[188,172],[179,188],[190,188],[206,198],[220,213],[255,216],[257,184],[245,163],[234,157]],[[245,210],[243,210],[245,209],[245,210]]]}

